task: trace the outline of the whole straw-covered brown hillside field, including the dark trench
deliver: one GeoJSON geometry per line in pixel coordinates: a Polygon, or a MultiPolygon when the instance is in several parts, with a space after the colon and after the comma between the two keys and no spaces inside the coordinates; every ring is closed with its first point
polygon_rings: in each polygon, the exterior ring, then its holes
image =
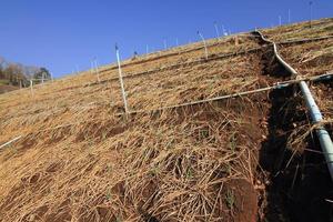
{"type": "MultiPolygon", "coordinates": [[[[261,31],[300,79],[333,72],[332,27],[261,31]]],[[[0,221],[333,220],[319,125],[270,88],[294,77],[254,32],[206,43],[122,61],[129,113],[115,64],[0,94],[0,221]]],[[[332,135],[332,80],[307,83],[332,135]]]]}

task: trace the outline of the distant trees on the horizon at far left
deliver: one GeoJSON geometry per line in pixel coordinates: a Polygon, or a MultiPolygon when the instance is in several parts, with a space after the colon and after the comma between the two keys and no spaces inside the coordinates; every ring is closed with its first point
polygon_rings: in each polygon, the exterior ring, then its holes
{"type": "Polygon", "coordinates": [[[0,57],[0,83],[29,87],[31,79],[33,79],[34,84],[41,83],[43,80],[50,80],[51,74],[46,68],[8,62],[0,57]]]}

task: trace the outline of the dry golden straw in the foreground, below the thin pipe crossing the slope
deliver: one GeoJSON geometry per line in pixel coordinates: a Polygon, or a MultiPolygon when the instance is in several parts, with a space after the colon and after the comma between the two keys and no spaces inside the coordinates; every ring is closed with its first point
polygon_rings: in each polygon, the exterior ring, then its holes
{"type": "Polygon", "coordinates": [[[259,139],[249,130],[258,120],[233,102],[238,112],[224,104],[128,120],[68,117],[72,124],[30,132],[1,153],[1,218],[226,220],[224,188],[252,184],[259,139]]]}

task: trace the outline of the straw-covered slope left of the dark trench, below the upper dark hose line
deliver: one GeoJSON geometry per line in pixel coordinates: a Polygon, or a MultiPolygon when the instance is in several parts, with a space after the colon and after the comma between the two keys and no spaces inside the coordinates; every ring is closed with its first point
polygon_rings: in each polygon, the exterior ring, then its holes
{"type": "MultiPolygon", "coordinates": [[[[273,81],[263,75],[261,51],[245,56],[125,78],[130,109],[273,81]]],[[[22,139],[1,151],[0,218],[255,220],[256,189],[263,190],[255,179],[258,148],[266,131],[262,100],[265,95],[127,117],[119,82],[99,84],[89,72],[8,93],[0,99],[0,144],[22,139]]]]}

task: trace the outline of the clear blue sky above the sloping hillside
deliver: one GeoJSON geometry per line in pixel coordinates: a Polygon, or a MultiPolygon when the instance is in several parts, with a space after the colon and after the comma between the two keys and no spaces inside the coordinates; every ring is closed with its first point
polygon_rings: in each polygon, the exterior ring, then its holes
{"type": "MultiPolygon", "coordinates": [[[[231,32],[310,18],[309,0],[0,0],[0,56],[48,68],[56,77],[77,67],[215,37],[214,21],[231,32]]],[[[333,16],[333,0],[313,0],[313,18],[333,16]]]]}

